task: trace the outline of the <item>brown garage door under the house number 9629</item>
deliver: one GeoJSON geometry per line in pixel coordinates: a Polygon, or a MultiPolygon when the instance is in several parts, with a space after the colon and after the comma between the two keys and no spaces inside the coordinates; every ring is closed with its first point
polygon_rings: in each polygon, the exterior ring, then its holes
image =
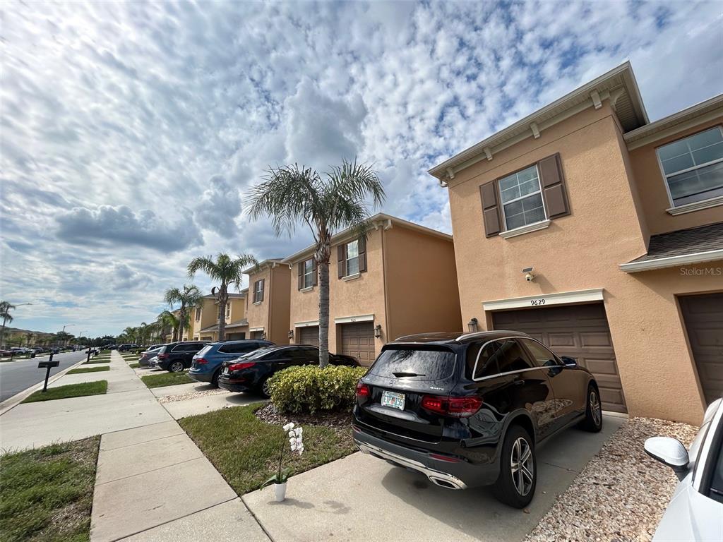
{"type": "Polygon", "coordinates": [[[496,330],[526,332],[560,356],[577,358],[595,375],[602,408],[628,411],[602,303],[495,312],[492,322],[496,330]]]}

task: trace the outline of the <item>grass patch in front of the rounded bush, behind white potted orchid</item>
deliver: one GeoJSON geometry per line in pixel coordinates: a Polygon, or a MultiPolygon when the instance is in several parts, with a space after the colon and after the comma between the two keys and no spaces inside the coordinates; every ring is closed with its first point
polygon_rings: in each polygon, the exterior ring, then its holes
{"type": "Polygon", "coordinates": [[[262,405],[226,408],[179,420],[181,427],[226,478],[237,494],[258,489],[275,473],[281,442],[286,442],[284,466],[293,473],[318,467],[356,451],[348,429],[304,427],[304,455],[293,455],[281,426],[260,421],[254,410],[262,405]]]}

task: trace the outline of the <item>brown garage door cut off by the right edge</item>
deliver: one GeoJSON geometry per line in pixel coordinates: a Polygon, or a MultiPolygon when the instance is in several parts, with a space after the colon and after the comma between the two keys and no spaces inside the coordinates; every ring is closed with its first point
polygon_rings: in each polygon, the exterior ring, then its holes
{"type": "Polygon", "coordinates": [[[682,296],[685,329],[706,403],[723,397],[723,293],[682,296]]]}

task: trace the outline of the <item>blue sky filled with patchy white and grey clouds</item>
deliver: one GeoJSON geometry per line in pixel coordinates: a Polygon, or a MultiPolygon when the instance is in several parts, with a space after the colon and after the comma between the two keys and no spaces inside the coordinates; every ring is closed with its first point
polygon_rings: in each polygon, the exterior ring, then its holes
{"type": "MultiPolygon", "coordinates": [[[[13,325],[151,322],[194,256],[283,257],[241,202],[268,165],[373,163],[450,231],[426,171],[629,59],[652,120],[723,88],[722,4],[0,7],[0,298],[13,325]]],[[[210,288],[205,278],[197,285],[210,288]]]]}

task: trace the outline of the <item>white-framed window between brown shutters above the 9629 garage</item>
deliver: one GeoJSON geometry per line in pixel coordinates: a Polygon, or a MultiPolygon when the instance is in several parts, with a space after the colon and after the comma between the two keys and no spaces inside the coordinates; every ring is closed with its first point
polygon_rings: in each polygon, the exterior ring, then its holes
{"type": "Polygon", "coordinates": [[[508,230],[545,220],[537,166],[500,178],[502,218],[508,230]]]}

